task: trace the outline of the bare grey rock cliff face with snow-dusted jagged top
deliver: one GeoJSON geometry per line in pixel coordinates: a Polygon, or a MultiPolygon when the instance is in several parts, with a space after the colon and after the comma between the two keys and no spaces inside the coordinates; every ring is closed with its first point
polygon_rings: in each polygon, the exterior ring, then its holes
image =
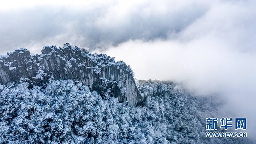
{"type": "Polygon", "coordinates": [[[91,90],[117,97],[120,102],[137,105],[144,98],[140,95],[132,70],[123,62],[92,54],[68,43],[62,48],[45,46],[42,54],[31,55],[27,49],[16,49],[0,58],[0,83],[26,81],[43,85],[51,79],[82,80],[91,90]]]}

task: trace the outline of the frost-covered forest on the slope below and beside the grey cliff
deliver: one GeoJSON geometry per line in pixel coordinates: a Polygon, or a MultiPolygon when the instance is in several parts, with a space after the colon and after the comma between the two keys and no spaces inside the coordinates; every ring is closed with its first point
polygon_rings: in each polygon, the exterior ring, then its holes
{"type": "Polygon", "coordinates": [[[101,97],[81,81],[0,86],[0,143],[247,143],[206,139],[205,117],[220,105],[177,84],[137,81],[139,106],[101,97]]]}

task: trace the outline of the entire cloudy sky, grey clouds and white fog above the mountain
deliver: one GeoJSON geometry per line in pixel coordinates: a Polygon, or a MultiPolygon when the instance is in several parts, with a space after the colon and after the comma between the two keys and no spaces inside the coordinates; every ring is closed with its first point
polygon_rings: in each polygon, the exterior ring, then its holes
{"type": "Polygon", "coordinates": [[[8,1],[0,6],[0,53],[89,47],[124,60],[137,79],[181,82],[225,99],[224,111],[247,117],[252,136],[255,18],[253,0],[8,1]]]}

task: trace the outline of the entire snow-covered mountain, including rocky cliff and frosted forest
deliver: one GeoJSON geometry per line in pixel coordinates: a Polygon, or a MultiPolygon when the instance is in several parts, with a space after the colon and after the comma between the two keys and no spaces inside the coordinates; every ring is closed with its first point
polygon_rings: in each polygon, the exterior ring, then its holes
{"type": "Polygon", "coordinates": [[[215,98],[68,43],[1,56],[0,83],[0,143],[251,143],[205,137],[215,98]]]}

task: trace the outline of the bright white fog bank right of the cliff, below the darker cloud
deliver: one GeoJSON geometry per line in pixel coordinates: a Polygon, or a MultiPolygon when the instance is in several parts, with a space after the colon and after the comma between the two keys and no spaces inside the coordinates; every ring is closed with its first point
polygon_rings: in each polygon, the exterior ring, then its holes
{"type": "Polygon", "coordinates": [[[221,116],[247,117],[252,138],[256,134],[255,6],[252,1],[219,1],[172,37],[129,40],[98,51],[124,60],[137,79],[172,80],[197,95],[217,96],[225,103],[221,116]]]}

